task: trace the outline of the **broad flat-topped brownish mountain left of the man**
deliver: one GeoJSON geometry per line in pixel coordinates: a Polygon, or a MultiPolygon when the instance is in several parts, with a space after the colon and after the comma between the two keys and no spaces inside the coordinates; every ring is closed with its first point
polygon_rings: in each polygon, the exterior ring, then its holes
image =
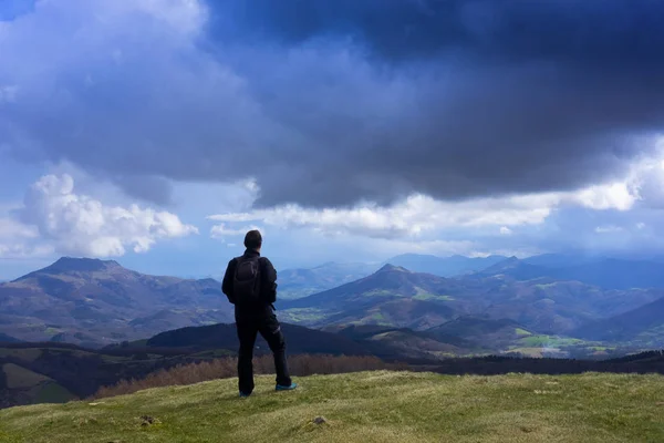
{"type": "Polygon", "coordinates": [[[216,280],[147,276],[116,261],[61,258],[0,285],[0,332],[27,341],[95,347],[232,318],[216,280]]]}

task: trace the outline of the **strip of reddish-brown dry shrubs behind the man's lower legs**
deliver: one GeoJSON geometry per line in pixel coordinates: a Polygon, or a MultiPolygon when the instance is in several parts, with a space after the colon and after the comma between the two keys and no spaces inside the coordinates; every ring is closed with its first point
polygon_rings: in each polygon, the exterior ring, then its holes
{"type": "MultiPolygon", "coordinates": [[[[209,380],[228,379],[237,375],[237,358],[180,364],[169,370],[159,370],[142,380],[122,380],[112,387],[102,387],[94,399],[131,394],[149,388],[195,384],[209,380]]],[[[293,356],[288,359],[292,375],[334,374],[383,369],[405,370],[404,364],[388,364],[376,357],[293,356]]],[[[253,359],[253,372],[274,373],[272,356],[253,359]]]]}

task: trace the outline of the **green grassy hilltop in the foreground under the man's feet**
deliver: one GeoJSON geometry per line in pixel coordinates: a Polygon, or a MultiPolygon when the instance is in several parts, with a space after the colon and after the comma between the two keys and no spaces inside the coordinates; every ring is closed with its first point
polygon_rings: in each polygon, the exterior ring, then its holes
{"type": "Polygon", "coordinates": [[[237,398],[235,379],[0,411],[18,442],[661,442],[661,375],[364,372],[237,398]],[[156,421],[142,425],[141,418],[156,421]],[[326,423],[313,420],[324,416],[326,423]]]}

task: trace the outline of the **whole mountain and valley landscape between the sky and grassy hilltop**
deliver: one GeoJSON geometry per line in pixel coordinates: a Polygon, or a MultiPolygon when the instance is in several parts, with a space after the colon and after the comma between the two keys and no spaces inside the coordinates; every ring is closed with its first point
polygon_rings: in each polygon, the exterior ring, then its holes
{"type": "MultiPolygon", "coordinates": [[[[473,260],[466,264],[476,266],[473,260]]],[[[311,275],[286,270],[278,284],[291,290],[303,288],[309,277],[307,291],[340,284],[279,297],[277,315],[291,354],[371,357],[453,373],[492,371],[495,357],[518,359],[543,373],[580,368],[572,361],[620,370],[626,367],[615,359],[664,348],[664,288],[606,288],[513,271],[560,269],[550,268],[554,257],[531,261],[537,264],[504,258],[452,277],[392,264],[374,271],[369,265],[338,264],[311,275]]],[[[116,261],[62,258],[0,284],[0,402],[84,398],[121,380],[234,358],[232,321],[232,306],[217,280],[148,276],[116,261]]],[[[269,353],[262,339],[256,353],[269,353]]],[[[655,367],[630,368],[664,370],[658,359],[655,367]]],[[[500,360],[495,370],[513,361],[500,360]]]]}

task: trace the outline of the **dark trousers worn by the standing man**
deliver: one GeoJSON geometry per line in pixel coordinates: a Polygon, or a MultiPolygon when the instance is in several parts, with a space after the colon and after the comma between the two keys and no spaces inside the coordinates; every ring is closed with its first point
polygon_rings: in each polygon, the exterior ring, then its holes
{"type": "Polygon", "coordinates": [[[266,339],[272,354],[274,356],[274,369],[277,370],[277,384],[289,387],[291,378],[288,373],[286,361],[286,339],[276,316],[258,318],[237,318],[238,338],[240,339],[240,352],[238,356],[238,378],[240,392],[250,394],[253,392],[253,347],[258,332],[266,339]]]}

